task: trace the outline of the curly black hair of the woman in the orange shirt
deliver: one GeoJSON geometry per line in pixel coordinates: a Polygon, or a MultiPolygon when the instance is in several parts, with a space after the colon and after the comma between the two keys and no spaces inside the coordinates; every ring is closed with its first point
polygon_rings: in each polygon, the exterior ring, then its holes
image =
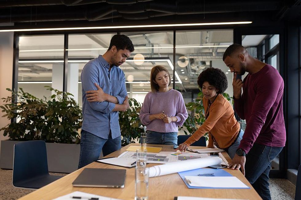
{"type": "Polygon", "coordinates": [[[228,88],[228,81],[226,74],[217,68],[208,68],[201,72],[199,77],[197,78],[197,85],[200,88],[203,87],[204,82],[208,82],[210,85],[216,87],[218,89],[217,93],[224,93],[225,90],[228,88]]]}

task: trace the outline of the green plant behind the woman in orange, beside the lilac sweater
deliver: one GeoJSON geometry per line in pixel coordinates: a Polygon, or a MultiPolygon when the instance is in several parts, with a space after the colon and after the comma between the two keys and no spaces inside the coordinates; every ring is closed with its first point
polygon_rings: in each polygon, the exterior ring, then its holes
{"type": "MultiPolygon", "coordinates": [[[[186,109],[188,111],[188,118],[184,122],[183,126],[180,127],[180,130],[182,130],[184,127],[186,127],[187,131],[184,130],[184,133],[186,135],[193,134],[197,131],[199,126],[201,126],[205,122],[205,109],[203,105],[203,92],[199,88],[200,92],[197,94],[197,98],[195,102],[189,102],[185,104],[186,109]]],[[[223,96],[228,100],[232,101],[233,104],[233,98],[230,97],[228,93],[223,93],[223,96]]],[[[208,140],[208,133],[205,134],[206,140],[208,140]]]]}

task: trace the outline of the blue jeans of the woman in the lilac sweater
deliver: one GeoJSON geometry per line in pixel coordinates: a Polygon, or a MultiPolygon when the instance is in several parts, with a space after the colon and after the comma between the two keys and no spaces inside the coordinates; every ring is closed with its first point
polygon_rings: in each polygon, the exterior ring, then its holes
{"type": "Polygon", "coordinates": [[[146,134],[146,143],[156,144],[156,145],[177,145],[178,133],[177,132],[160,133],[160,132],[148,130],[146,134]]]}

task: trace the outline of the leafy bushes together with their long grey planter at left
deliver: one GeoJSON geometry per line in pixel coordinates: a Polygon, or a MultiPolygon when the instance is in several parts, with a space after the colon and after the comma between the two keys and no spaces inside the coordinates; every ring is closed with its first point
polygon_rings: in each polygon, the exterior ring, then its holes
{"type": "MultiPolygon", "coordinates": [[[[48,86],[45,86],[48,87],[48,86]]],[[[51,87],[54,92],[50,100],[38,99],[24,92],[12,92],[2,98],[0,108],[12,119],[12,123],[1,128],[9,140],[1,141],[0,167],[12,168],[13,146],[27,140],[44,140],[50,172],[73,172],[77,169],[80,146],[78,130],[81,127],[82,114],[79,105],[68,92],[61,92],[51,87]]]]}

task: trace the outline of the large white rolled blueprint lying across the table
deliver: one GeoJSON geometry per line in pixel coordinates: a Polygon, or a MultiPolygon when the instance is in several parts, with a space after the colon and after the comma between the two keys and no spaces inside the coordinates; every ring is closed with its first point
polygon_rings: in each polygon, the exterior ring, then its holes
{"type": "Polygon", "coordinates": [[[219,157],[205,157],[205,158],[197,158],[192,160],[184,160],[180,162],[156,165],[150,167],[149,177],[184,172],[188,170],[208,167],[211,165],[221,164],[221,162],[222,160],[219,157]]]}

